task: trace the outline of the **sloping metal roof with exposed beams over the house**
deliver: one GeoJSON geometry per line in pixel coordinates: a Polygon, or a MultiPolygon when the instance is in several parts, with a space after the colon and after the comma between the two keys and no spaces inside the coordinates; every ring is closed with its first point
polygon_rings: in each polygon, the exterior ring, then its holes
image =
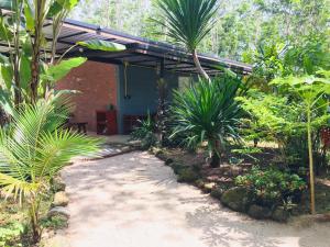
{"type": "MultiPolygon", "coordinates": [[[[45,50],[50,50],[52,44],[52,22],[47,21],[44,24],[43,32],[47,41],[45,50]]],[[[163,42],[155,42],[143,37],[133,36],[122,32],[103,29],[98,25],[88,24],[79,21],[66,19],[63,23],[56,50],[58,55],[64,54],[68,48],[77,42],[88,40],[103,40],[123,44],[127,50],[123,52],[101,52],[91,50],[86,47],[76,46],[72,48],[66,56],[86,56],[90,60],[109,63],[109,64],[125,64],[155,68],[161,61],[164,63],[165,70],[170,70],[182,74],[197,74],[191,54],[179,46],[174,46],[163,42]]],[[[0,53],[8,53],[7,44],[0,42],[0,53]]],[[[217,67],[230,68],[241,75],[246,75],[252,71],[252,66],[234,61],[231,59],[219,58],[211,55],[199,55],[201,66],[209,75],[221,74],[217,67]]]]}

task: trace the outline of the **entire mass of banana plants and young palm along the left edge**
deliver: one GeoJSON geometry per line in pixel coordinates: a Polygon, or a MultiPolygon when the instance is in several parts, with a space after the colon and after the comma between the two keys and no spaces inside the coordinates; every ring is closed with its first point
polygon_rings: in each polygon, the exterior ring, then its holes
{"type": "MultiPolygon", "coordinates": [[[[8,120],[0,127],[1,195],[28,207],[34,243],[41,238],[40,207],[51,179],[70,158],[91,155],[100,144],[64,128],[69,101],[54,90],[55,82],[86,61],[55,54],[63,20],[76,3],[15,0],[0,10],[0,38],[10,49],[0,55],[0,102],[8,120]],[[43,33],[50,21],[51,44],[43,33]]],[[[4,234],[10,238],[10,232],[4,234]]]]}

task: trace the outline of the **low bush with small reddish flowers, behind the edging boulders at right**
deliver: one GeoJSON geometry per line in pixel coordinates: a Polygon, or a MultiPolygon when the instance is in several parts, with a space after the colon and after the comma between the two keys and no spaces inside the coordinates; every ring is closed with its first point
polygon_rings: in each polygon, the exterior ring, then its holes
{"type": "Polygon", "coordinates": [[[306,182],[298,175],[290,175],[276,168],[262,170],[255,166],[245,176],[238,176],[238,186],[246,187],[253,192],[256,203],[261,205],[283,204],[289,200],[299,200],[306,182]]]}

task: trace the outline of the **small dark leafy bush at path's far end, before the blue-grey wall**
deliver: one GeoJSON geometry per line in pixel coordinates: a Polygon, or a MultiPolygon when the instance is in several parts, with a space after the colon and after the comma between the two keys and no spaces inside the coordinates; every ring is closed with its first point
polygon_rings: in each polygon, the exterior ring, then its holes
{"type": "Polygon", "coordinates": [[[157,137],[155,135],[156,124],[147,113],[146,120],[140,120],[140,125],[131,133],[131,139],[141,141],[143,148],[155,146],[157,137]]]}

